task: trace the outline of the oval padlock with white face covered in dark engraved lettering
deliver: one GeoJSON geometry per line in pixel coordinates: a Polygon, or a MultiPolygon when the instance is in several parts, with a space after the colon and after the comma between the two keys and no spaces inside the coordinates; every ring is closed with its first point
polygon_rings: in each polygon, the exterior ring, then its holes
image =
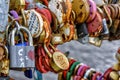
{"type": "Polygon", "coordinates": [[[34,9],[24,11],[26,17],[26,26],[28,26],[32,37],[37,38],[43,31],[43,19],[34,9]]]}

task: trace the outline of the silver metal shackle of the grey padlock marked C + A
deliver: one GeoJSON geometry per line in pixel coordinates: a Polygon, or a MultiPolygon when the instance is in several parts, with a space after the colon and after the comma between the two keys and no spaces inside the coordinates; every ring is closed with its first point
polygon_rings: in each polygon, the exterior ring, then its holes
{"type": "Polygon", "coordinates": [[[30,31],[29,31],[27,28],[23,27],[23,26],[20,26],[19,29],[14,28],[14,29],[12,30],[12,32],[11,32],[11,39],[10,39],[11,45],[12,45],[12,46],[15,45],[15,33],[17,32],[17,30],[19,30],[19,31],[20,31],[20,30],[25,31],[25,32],[27,33],[27,35],[28,35],[28,40],[29,40],[29,41],[28,41],[28,45],[29,45],[29,46],[33,46],[32,35],[31,35],[30,31]]]}

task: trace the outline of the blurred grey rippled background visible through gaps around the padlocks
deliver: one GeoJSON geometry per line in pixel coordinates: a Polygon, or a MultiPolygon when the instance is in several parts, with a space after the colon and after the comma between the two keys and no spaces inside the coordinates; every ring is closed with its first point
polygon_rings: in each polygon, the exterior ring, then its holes
{"type": "MultiPolygon", "coordinates": [[[[73,57],[101,72],[116,62],[114,55],[118,47],[120,47],[120,41],[103,41],[100,48],[90,44],[82,45],[77,41],[58,46],[62,52],[70,51],[69,57],[73,57]]],[[[10,71],[10,76],[15,80],[34,80],[25,78],[23,72],[10,71]]],[[[57,75],[49,72],[43,75],[43,80],[57,80],[57,75]]]]}

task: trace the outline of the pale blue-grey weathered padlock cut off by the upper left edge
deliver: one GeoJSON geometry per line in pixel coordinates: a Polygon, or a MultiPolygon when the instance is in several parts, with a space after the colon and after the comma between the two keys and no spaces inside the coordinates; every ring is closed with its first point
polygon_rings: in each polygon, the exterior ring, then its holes
{"type": "Polygon", "coordinates": [[[5,40],[5,30],[8,24],[9,2],[10,0],[0,1],[0,43],[4,43],[5,40]]]}

